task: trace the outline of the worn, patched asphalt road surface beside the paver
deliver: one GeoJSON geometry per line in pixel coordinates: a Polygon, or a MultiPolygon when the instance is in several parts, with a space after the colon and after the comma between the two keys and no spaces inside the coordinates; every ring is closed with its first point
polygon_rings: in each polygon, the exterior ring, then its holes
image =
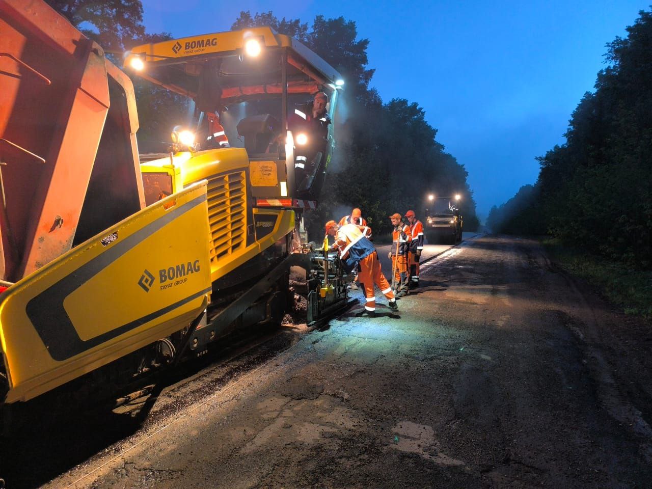
{"type": "Polygon", "coordinates": [[[506,237],[433,259],[399,305],[301,334],[46,487],[649,487],[648,323],[506,237]]]}

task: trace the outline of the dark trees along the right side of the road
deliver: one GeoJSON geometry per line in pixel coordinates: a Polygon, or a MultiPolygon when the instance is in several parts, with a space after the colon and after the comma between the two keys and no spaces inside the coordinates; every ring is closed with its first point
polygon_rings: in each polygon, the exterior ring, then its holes
{"type": "Polygon", "coordinates": [[[537,158],[534,186],[492,208],[496,232],[550,233],[652,267],[652,10],[607,44],[608,66],[573,111],[565,143],[537,158]]]}

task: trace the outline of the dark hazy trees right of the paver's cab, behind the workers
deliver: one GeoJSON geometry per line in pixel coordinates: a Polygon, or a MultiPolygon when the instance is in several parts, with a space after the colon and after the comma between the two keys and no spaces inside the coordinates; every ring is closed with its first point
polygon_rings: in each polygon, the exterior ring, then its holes
{"type": "Polygon", "coordinates": [[[387,216],[408,209],[421,214],[429,193],[462,194],[465,228],[477,228],[467,172],[436,141],[437,130],[426,122],[419,104],[404,98],[383,104],[370,89],[374,70],[367,67],[369,40],[357,38],[355,22],[317,16],[308,29],[299,20],[278,20],[272,12],[241,12],[232,29],[256,25],[271,25],[301,40],[346,80],[335,121],[338,148],[319,208],[308,216],[312,237],[323,233],[323,222],[338,220],[351,207],[360,207],[376,232],[387,231],[387,216]]]}

